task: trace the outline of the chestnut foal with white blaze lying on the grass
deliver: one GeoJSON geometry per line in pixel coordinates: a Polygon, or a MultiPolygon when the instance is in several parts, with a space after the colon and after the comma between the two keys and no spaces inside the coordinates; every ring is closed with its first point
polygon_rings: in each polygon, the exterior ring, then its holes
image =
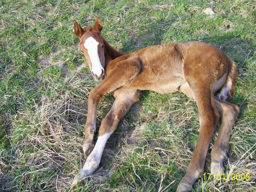
{"type": "Polygon", "coordinates": [[[83,144],[87,160],[72,186],[84,183],[85,178],[98,168],[108,138],[122,116],[139,100],[141,90],[181,91],[195,99],[199,108],[198,142],[177,192],[190,191],[195,181],[202,177],[209,143],[219,118],[222,124],[212,148],[211,172],[222,175],[230,132],[239,114],[238,106],[226,102],[232,99],[235,91],[237,72],[234,61],[216,47],[198,41],[156,45],[122,54],[101,37],[102,29],[99,17],[94,27],[85,30],[74,22],[74,33],[80,39],[81,51],[91,73],[95,79],[103,81],[91,90],[88,98],[83,144]],[[219,91],[218,97],[214,96],[216,91],[219,91]],[[94,146],[97,106],[107,93],[113,94],[115,101],[101,122],[94,146]]]}

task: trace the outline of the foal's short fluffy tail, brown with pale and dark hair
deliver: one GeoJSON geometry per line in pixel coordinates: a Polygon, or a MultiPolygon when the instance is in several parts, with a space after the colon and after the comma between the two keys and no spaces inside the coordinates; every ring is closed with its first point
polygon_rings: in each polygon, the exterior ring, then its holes
{"type": "Polygon", "coordinates": [[[235,84],[237,80],[237,71],[236,71],[236,63],[229,57],[229,66],[228,66],[228,77],[226,83],[220,89],[218,98],[223,101],[230,101],[233,98],[233,93],[235,92],[235,84]]]}

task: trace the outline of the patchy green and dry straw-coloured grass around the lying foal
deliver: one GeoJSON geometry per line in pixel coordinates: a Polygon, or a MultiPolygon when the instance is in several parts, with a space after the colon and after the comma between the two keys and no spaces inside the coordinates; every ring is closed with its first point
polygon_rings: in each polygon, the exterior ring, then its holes
{"type": "MultiPolygon", "coordinates": [[[[250,0],[2,0],[0,190],[70,191],[84,164],[88,94],[98,84],[79,51],[73,23],[87,26],[97,16],[105,39],[125,53],[202,40],[236,61],[239,79],[232,103],[243,105],[232,130],[225,173],[249,173],[250,179],[199,179],[193,191],[254,192],[256,7],[250,0]],[[203,12],[208,7],[213,16],[203,12]]],[[[113,101],[110,94],[102,99],[97,126],[113,101]]],[[[109,139],[98,171],[77,191],[174,192],[198,134],[194,101],[180,93],[143,91],[109,139]]]]}

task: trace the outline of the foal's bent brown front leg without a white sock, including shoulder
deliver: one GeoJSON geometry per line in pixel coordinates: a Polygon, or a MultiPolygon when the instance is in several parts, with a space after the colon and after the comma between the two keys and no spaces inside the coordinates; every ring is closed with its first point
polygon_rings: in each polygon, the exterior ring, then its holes
{"type": "Polygon", "coordinates": [[[97,107],[100,99],[104,94],[115,91],[116,89],[133,80],[140,72],[140,61],[137,59],[127,59],[123,61],[112,61],[111,69],[108,69],[108,74],[104,81],[97,87],[93,88],[88,98],[88,115],[86,126],[84,128],[84,156],[88,157],[94,148],[94,134],[96,131],[96,115],[97,107]],[[114,63],[113,63],[114,62],[114,63]]]}

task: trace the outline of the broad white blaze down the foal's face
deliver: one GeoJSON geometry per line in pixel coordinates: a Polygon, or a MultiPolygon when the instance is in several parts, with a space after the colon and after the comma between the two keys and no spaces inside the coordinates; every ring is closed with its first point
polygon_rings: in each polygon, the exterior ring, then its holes
{"type": "Polygon", "coordinates": [[[91,59],[91,71],[100,77],[104,68],[101,66],[101,61],[98,55],[98,44],[99,42],[93,37],[89,37],[87,40],[85,40],[84,47],[88,50],[88,55],[91,59]]]}

